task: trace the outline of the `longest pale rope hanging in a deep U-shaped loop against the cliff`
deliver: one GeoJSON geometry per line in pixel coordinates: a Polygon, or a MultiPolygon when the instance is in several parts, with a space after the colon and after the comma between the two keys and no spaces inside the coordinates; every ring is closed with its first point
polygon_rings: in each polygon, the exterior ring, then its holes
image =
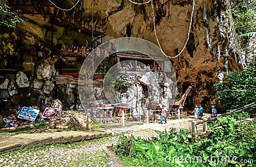
{"type": "Polygon", "coordinates": [[[169,56],[169,55],[166,55],[165,53],[164,53],[164,51],[163,51],[163,49],[162,49],[162,47],[161,47],[161,45],[160,45],[160,43],[159,43],[159,40],[158,40],[158,38],[157,38],[157,34],[156,34],[156,18],[155,18],[155,14],[154,14],[154,6],[153,6],[153,1],[151,1],[151,6],[152,6],[152,13],[153,13],[153,22],[154,22],[154,33],[155,33],[155,36],[156,36],[156,40],[157,40],[157,43],[158,43],[158,45],[159,45],[159,48],[161,49],[161,52],[165,55],[165,56],[167,56],[167,57],[170,57],[170,58],[176,58],[176,57],[179,57],[179,55],[184,51],[184,49],[185,49],[185,47],[186,47],[186,45],[187,45],[187,43],[188,43],[188,40],[189,40],[189,34],[190,34],[190,31],[191,31],[191,25],[192,25],[192,20],[193,20],[193,13],[194,13],[194,9],[195,9],[195,0],[193,0],[193,8],[192,8],[192,13],[191,13],[191,18],[190,18],[190,24],[189,24],[189,31],[188,31],[188,38],[187,38],[187,40],[186,40],[186,43],[185,43],[185,45],[184,45],[184,47],[182,48],[182,50],[179,52],[179,54],[177,54],[177,55],[175,55],[175,56],[169,56]]]}

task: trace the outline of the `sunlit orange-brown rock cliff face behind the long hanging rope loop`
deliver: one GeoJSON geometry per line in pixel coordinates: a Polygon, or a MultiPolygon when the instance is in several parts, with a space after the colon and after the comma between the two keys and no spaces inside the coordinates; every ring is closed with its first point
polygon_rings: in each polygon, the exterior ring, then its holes
{"type": "MultiPolygon", "coordinates": [[[[142,3],[143,1],[136,1],[142,3]]],[[[156,33],[163,51],[173,57],[184,47],[193,14],[189,40],[177,58],[170,58],[177,76],[178,97],[189,85],[193,87],[186,103],[216,103],[213,83],[223,79],[228,71],[241,69],[236,63],[230,38],[227,2],[218,0],[153,1],[156,33]]],[[[157,45],[151,3],[138,5],[130,1],[84,1],[87,12],[107,17],[108,36],[144,38],[157,45]]],[[[141,46],[143,47],[143,46],[141,46]]]]}

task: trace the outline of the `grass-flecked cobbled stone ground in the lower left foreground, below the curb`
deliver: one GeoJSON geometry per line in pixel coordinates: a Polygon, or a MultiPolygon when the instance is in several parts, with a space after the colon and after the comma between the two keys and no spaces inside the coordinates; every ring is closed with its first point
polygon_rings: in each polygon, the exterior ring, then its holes
{"type": "Polygon", "coordinates": [[[103,145],[116,143],[118,136],[101,140],[49,145],[17,150],[0,156],[0,166],[109,166],[103,145]]]}

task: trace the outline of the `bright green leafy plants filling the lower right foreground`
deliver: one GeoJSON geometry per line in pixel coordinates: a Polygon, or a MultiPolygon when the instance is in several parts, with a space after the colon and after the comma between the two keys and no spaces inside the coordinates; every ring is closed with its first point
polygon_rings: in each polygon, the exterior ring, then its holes
{"type": "Polygon", "coordinates": [[[150,140],[122,136],[116,154],[130,166],[245,166],[243,159],[253,164],[255,122],[220,117],[211,129],[207,137],[197,134],[194,139],[188,129],[156,131],[159,138],[150,140]]]}

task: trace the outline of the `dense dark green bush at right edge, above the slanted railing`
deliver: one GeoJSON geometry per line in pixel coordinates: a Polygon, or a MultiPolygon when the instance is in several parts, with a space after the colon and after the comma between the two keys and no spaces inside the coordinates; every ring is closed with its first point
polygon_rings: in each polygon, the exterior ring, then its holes
{"type": "Polygon", "coordinates": [[[233,110],[256,101],[256,68],[228,73],[226,79],[214,85],[216,91],[220,92],[220,105],[233,110]]]}

